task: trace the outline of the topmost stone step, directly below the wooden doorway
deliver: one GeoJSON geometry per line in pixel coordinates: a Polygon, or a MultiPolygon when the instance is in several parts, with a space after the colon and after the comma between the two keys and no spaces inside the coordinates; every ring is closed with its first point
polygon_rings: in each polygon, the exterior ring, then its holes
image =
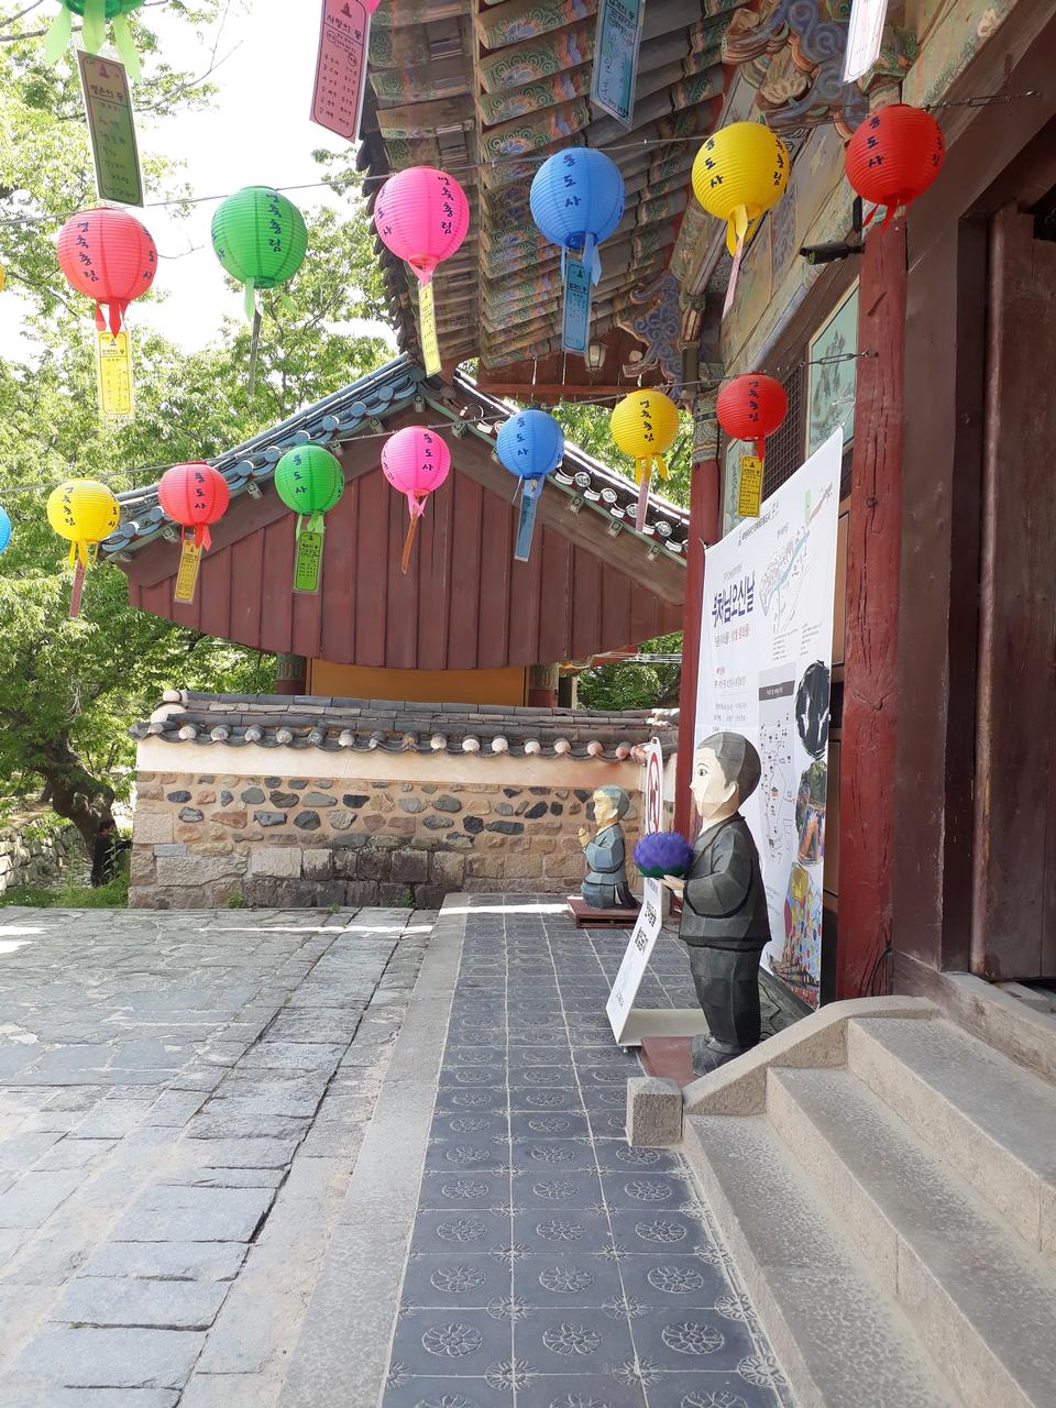
{"type": "Polygon", "coordinates": [[[946,1021],[848,1024],[848,1069],[1056,1266],[1056,1088],[946,1021]]]}

